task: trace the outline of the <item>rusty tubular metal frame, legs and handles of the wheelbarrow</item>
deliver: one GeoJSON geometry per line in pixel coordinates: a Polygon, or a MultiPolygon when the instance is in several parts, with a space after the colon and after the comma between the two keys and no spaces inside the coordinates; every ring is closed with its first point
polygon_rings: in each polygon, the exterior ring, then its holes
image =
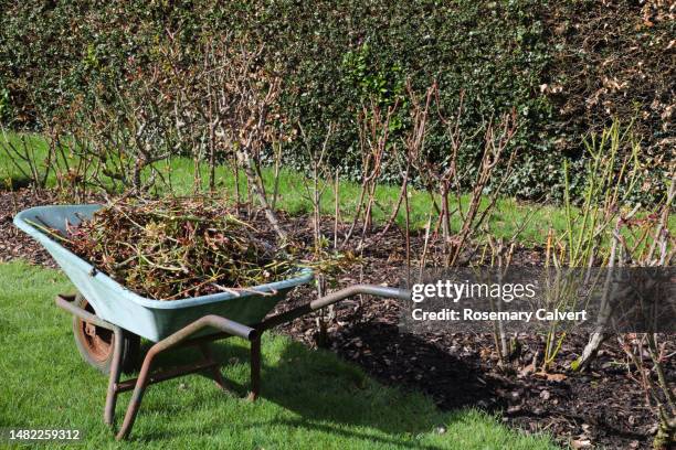
{"type": "Polygon", "coordinates": [[[138,377],[125,381],[120,381],[120,375],[123,372],[122,342],[125,330],[118,325],[106,322],[83,308],[75,306],[74,296],[57,296],[56,306],[74,315],[77,315],[86,322],[110,330],[114,333],[115,340],[113,345],[113,361],[108,376],[108,388],[104,407],[104,422],[115,429],[115,407],[117,405],[117,396],[124,392],[134,390],[129,405],[127,406],[123,425],[115,436],[117,440],[123,440],[127,439],[131,432],[131,428],[134,427],[144,394],[149,385],[198,372],[210,372],[216,385],[221,389],[226,389],[225,381],[221,374],[221,363],[213,358],[213,354],[208,345],[209,343],[232,336],[242,338],[250,342],[251,390],[247,395],[247,399],[253,401],[261,393],[261,338],[263,333],[279,324],[289,322],[302,315],[317,311],[321,308],[357,294],[369,294],[402,300],[410,298],[409,291],[402,289],[373,285],[356,285],[336,292],[331,292],[320,299],[310,301],[289,311],[273,315],[253,326],[247,326],[220,315],[208,314],[191,322],[173,334],[156,342],[146,353],[138,377]],[[196,334],[204,331],[204,329],[213,329],[216,332],[196,336],[196,334]],[[171,349],[183,346],[198,346],[203,355],[203,361],[186,364],[171,369],[152,372],[152,365],[158,354],[171,349]]]}

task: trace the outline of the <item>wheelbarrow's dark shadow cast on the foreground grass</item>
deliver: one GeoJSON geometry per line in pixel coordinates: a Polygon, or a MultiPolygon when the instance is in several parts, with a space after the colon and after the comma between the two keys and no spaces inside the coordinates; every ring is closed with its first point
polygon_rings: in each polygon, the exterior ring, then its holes
{"type": "MultiPolygon", "coordinates": [[[[264,342],[270,339],[272,339],[270,335],[263,336],[264,342]]],[[[247,345],[233,345],[231,342],[221,341],[212,344],[214,356],[224,366],[229,362],[235,362],[240,365],[237,371],[243,369],[247,378],[249,368],[242,367],[241,364],[249,365],[249,347],[247,345]]],[[[265,345],[263,347],[261,398],[300,417],[254,420],[254,424],[249,424],[249,426],[305,428],[392,446],[436,448],[434,446],[424,447],[421,442],[410,442],[408,439],[400,438],[431,432],[436,427],[444,425],[440,422],[443,421],[444,415],[436,409],[430,398],[418,393],[405,393],[397,387],[385,387],[372,381],[361,368],[337,358],[328,351],[309,351],[303,344],[291,340],[276,341],[273,344],[273,346],[277,345],[283,345],[283,347],[277,352],[272,352],[272,355],[266,355],[270,349],[266,349],[265,345]],[[360,427],[366,429],[360,429],[360,427]],[[370,433],[369,428],[380,430],[388,436],[370,433]]],[[[148,346],[149,343],[146,343],[144,350],[147,350],[148,346]]],[[[415,343],[415,346],[430,346],[430,343],[420,341],[415,343]]],[[[158,358],[158,366],[169,367],[184,364],[194,361],[196,354],[199,353],[190,350],[168,352],[158,358]]],[[[208,375],[203,374],[203,376],[208,375]]],[[[239,376],[239,378],[242,377],[239,376]]],[[[235,397],[244,397],[247,394],[249,379],[243,384],[232,379],[226,379],[226,382],[235,397]]],[[[150,389],[161,388],[161,385],[150,387],[150,389]]],[[[200,395],[207,397],[203,400],[208,400],[222,394],[214,387],[213,394],[205,392],[200,395]]],[[[223,401],[233,399],[223,398],[223,401]]],[[[235,400],[246,401],[244,398],[235,400]]],[[[196,407],[200,403],[202,399],[196,401],[196,407]]],[[[125,399],[122,399],[120,404],[126,407],[125,399]]],[[[243,404],[242,407],[244,406],[243,404]]],[[[148,408],[145,405],[141,406],[139,420],[142,420],[144,411],[154,413],[154,409],[156,408],[152,406],[148,408]]],[[[221,426],[223,424],[214,422],[213,428],[215,430],[221,426]]],[[[202,428],[199,431],[209,432],[209,429],[202,428]]],[[[154,433],[139,436],[141,440],[166,438],[166,432],[157,436],[154,433]]]]}

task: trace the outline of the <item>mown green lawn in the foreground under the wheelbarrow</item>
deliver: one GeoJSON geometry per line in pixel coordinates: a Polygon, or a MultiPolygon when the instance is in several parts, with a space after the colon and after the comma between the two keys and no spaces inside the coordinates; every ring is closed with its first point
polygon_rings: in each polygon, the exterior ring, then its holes
{"type": "MultiPolygon", "coordinates": [[[[0,427],[82,429],[85,446],[76,449],[554,448],[476,410],[442,413],[423,395],[384,387],[330,352],[274,334],[263,340],[258,401],[219,392],[200,375],[150,386],[131,441],[118,443],[102,420],[107,379],[80,360],[71,318],[53,304],[54,294],[73,289],[65,277],[10,262],[0,265],[0,427]],[[435,432],[440,426],[446,432],[435,432]]],[[[214,347],[232,362],[223,373],[244,394],[244,343],[214,347]]],[[[118,420],[129,395],[120,397],[118,420]]]]}

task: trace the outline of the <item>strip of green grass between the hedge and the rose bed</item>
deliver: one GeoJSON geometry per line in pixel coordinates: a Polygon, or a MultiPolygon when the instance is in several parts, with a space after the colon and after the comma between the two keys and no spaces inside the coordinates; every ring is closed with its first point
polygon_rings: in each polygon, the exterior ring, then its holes
{"type": "MultiPolygon", "coordinates": [[[[8,133],[7,137],[17,146],[21,146],[21,139],[24,139],[33,151],[33,159],[36,161],[44,161],[46,156],[46,143],[38,135],[23,135],[21,137],[17,133],[8,133]]],[[[4,140],[4,137],[0,135],[0,140],[4,140]]],[[[2,144],[2,142],[0,142],[2,144]]],[[[28,165],[21,162],[23,170],[28,169],[28,165]]],[[[193,161],[188,158],[175,158],[169,164],[158,165],[165,175],[166,180],[171,182],[171,190],[179,195],[189,195],[193,192],[194,186],[194,164],[193,161]]],[[[202,180],[204,186],[207,186],[208,171],[203,167],[202,180]]],[[[274,185],[274,171],[271,168],[263,169],[264,183],[268,193],[273,192],[274,185]]],[[[230,199],[234,199],[235,195],[235,178],[230,168],[220,167],[216,169],[216,179],[219,191],[230,199]]],[[[12,161],[8,158],[4,151],[0,150],[0,183],[11,183],[13,186],[23,186],[27,184],[27,180],[12,161]]],[[[49,184],[55,184],[55,178],[53,173],[50,174],[49,184]]],[[[242,192],[245,191],[244,174],[240,174],[240,186],[242,192]]],[[[163,188],[167,189],[167,188],[163,188]]],[[[377,188],[376,200],[377,206],[374,210],[376,221],[382,221],[389,217],[390,211],[399,196],[400,186],[381,184],[377,188]]],[[[305,190],[304,176],[297,171],[283,169],[279,176],[278,186],[278,202],[277,206],[293,214],[299,214],[307,212],[311,208],[308,194],[305,190]]],[[[340,213],[344,219],[349,219],[353,216],[357,208],[357,202],[359,199],[360,185],[359,183],[341,181],[339,183],[339,203],[340,213]]],[[[463,206],[467,207],[468,196],[464,195],[463,206]]],[[[434,208],[430,200],[430,195],[426,192],[411,190],[410,199],[411,205],[411,226],[414,229],[424,227],[430,218],[430,214],[433,214],[434,208]]],[[[452,210],[456,205],[451,206],[452,210]]],[[[321,202],[323,213],[327,215],[334,215],[335,212],[335,195],[334,188],[328,186],[324,193],[321,202]]],[[[433,214],[433,219],[436,214],[433,214]]],[[[460,227],[460,221],[457,214],[453,217],[453,225],[457,229],[460,227]]],[[[405,222],[403,207],[401,208],[398,223],[403,226],[405,222]]],[[[524,232],[520,235],[520,240],[524,243],[542,243],[546,239],[549,227],[562,231],[566,228],[566,215],[562,208],[550,206],[550,205],[534,205],[524,204],[517,202],[514,199],[501,199],[498,201],[495,213],[488,221],[488,225],[494,236],[510,238],[520,225],[527,222],[524,232]]]]}

